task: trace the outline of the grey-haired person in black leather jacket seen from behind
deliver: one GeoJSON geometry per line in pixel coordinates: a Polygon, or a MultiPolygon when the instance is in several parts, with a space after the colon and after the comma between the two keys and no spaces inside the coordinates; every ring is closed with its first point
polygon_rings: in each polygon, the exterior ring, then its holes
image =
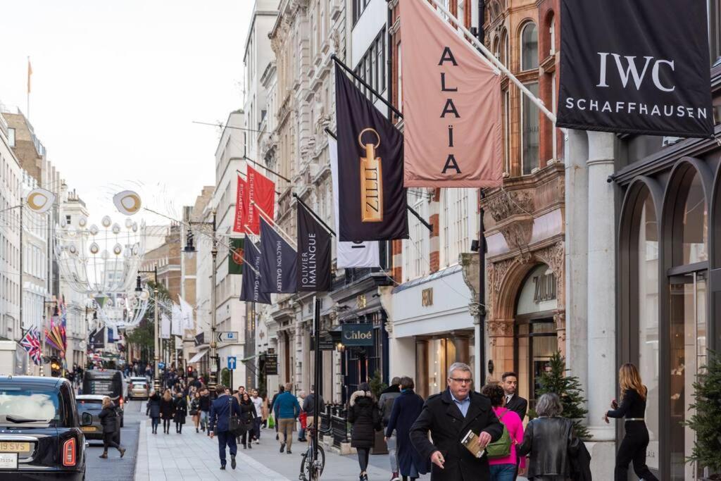
{"type": "Polygon", "coordinates": [[[571,456],[581,444],[573,432],[570,419],[562,418],[563,405],[554,393],[543,394],[536,402],[538,418],[526,425],[519,456],[530,454],[528,479],[535,481],[567,480],[571,475],[571,456]]]}

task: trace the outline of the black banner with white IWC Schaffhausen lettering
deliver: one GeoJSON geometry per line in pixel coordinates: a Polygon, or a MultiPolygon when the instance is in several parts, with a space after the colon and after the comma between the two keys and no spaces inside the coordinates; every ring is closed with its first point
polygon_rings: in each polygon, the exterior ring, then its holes
{"type": "Polygon", "coordinates": [[[705,1],[561,3],[558,127],[713,135],[705,1]]]}

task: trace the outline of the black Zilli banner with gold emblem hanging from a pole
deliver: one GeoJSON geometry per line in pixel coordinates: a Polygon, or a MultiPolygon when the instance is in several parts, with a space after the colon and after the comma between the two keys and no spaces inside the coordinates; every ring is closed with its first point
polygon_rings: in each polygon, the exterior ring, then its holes
{"type": "Polygon", "coordinates": [[[341,241],[408,238],[403,136],[335,66],[341,241]]]}

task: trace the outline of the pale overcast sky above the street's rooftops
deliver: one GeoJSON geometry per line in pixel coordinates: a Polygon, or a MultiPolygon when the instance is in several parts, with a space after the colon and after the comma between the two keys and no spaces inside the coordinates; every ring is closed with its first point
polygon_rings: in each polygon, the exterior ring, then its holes
{"type": "Polygon", "coordinates": [[[215,180],[218,128],[192,121],[225,122],[242,107],[253,3],[4,2],[0,102],[27,110],[30,56],[30,122],[92,218],[120,219],[112,194],[123,188],[180,216],[215,180]]]}

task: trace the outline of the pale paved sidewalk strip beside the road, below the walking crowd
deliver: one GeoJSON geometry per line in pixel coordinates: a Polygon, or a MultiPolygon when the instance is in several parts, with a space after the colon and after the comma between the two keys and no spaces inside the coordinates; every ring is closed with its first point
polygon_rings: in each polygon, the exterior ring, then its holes
{"type": "MultiPolygon", "coordinates": [[[[175,425],[169,434],[153,434],[150,420],[141,423],[136,481],[185,481],[185,480],[247,480],[247,481],[286,481],[288,478],[265,467],[260,462],[238,451],[238,467],[231,469],[230,454],[225,471],[220,469],[218,459],[218,440],[208,438],[205,433],[195,433],[191,423],[183,426],[183,433],[175,433],[175,425]]],[[[276,454],[279,454],[276,451],[276,454]]],[[[293,456],[293,455],[290,455],[293,456]]],[[[288,457],[290,457],[288,456],[288,457]]],[[[295,458],[296,456],[293,456],[295,458]]],[[[300,456],[297,458],[300,465],[300,456]]],[[[271,461],[268,464],[273,465],[271,461]]],[[[277,464],[277,460],[275,461],[277,464]]]]}

